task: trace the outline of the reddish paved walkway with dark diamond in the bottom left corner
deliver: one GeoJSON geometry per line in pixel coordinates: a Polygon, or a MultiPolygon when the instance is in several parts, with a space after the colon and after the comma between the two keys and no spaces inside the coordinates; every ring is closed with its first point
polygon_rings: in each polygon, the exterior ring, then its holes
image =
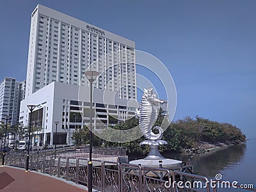
{"type": "Polygon", "coordinates": [[[24,169],[0,166],[0,191],[1,192],[85,192],[86,188],[56,179],[43,173],[25,172],[24,169]]]}

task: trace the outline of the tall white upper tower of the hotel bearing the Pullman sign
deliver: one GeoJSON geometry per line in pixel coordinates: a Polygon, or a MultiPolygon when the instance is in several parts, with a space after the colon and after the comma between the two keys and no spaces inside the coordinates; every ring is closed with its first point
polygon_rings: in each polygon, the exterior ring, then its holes
{"type": "Polygon", "coordinates": [[[31,14],[26,96],[53,81],[81,82],[84,71],[100,72],[96,88],[136,99],[135,43],[38,4],[31,14]]]}

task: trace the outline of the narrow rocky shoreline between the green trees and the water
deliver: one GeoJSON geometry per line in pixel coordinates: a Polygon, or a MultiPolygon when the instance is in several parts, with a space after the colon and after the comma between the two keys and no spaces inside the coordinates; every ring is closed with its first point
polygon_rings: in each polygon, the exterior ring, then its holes
{"type": "Polygon", "coordinates": [[[225,147],[229,147],[232,145],[236,145],[242,143],[242,141],[232,141],[230,143],[208,143],[208,142],[204,142],[204,141],[200,141],[197,143],[197,147],[194,148],[187,148],[187,149],[182,149],[182,153],[185,154],[193,154],[193,153],[205,153],[205,152],[212,152],[214,150],[218,150],[220,148],[225,148],[225,147]]]}

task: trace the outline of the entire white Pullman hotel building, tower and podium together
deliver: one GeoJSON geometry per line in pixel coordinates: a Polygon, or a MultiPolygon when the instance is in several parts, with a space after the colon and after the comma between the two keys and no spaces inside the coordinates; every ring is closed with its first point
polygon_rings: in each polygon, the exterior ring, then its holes
{"type": "Polygon", "coordinates": [[[95,84],[97,94],[93,93],[94,125],[99,119],[109,125],[115,124],[113,116],[125,120],[134,115],[136,104],[130,102],[136,100],[134,49],[135,43],[127,38],[38,4],[31,14],[20,123],[28,125],[26,106],[35,104],[32,124],[43,128],[38,133],[40,142],[52,144],[56,137],[58,143],[72,143],[75,127],[83,126],[77,113],[83,113],[84,123],[89,120],[89,84],[82,79],[86,70],[100,73],[95,84]],[[78,98],[79,84],[85,84],[83,100],[78,98]],[[103,95],[108,98],[102,99],[103,95]]]}

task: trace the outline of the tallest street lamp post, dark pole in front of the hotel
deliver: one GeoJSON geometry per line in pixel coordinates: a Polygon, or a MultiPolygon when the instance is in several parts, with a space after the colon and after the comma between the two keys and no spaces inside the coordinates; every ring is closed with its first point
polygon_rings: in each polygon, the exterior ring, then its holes
{"type": "Polygon", "coordinates": [[[86,71],[84,72],[84,75],[90,82],[90,154],[88,162],[88,192],[92,192],[92,83],[99,75],[99,72],[86,71]]]}

